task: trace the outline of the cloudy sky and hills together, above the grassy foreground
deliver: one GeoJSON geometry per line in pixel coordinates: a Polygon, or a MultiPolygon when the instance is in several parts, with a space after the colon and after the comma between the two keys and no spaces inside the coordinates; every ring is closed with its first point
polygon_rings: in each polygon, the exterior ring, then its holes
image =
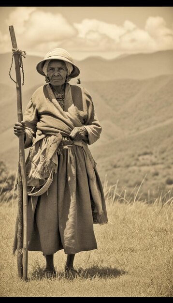
{"type": "Polygon", "coordinates": [[[16,170],[9,25],[27,52],[23,110],[45,83],[36,64],[50,49],[67,49],[101,121],[101,138],[90,147],[101,181],[107,175],[110,184],[118,182],[119,191],[130,193],[144,179],[146,199],[168,192],[173,185],[173,7],[0,8],[0,159],[16,170]]]}

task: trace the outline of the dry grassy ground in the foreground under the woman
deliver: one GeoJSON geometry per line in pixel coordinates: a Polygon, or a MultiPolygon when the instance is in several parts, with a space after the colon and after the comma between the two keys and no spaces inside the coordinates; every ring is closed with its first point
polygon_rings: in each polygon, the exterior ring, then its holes
{"type": "Polygon", "coordinates": [[[1,297],[172,297],[173,205],[107,203],[109,224],[95,226],[98,249],[76,255],[78,276],[64,276],[66,256],[55,254],[57,275],[45,278],[41,252],[29,252],[29,281],[17,277],[12,255],[16,205],[0,206],[1,297]]]}

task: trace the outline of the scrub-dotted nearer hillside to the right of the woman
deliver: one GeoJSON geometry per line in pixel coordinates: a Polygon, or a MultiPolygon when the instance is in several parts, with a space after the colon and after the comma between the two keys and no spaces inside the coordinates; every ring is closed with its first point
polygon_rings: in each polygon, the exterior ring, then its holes
{"type": "Polygon", "coordinates": [[[173,76],[86,83],[103,125],[101,139],[91,146],[102,181],[107,173],[130,194],[146,175],[145,199],[173,188],[172,83],[173,76]]]}

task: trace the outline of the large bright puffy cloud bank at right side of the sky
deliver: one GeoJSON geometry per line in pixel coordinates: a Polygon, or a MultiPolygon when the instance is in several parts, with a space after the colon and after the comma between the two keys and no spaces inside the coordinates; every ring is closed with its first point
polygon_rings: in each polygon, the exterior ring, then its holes
{"type": "MultiPolygon", "coordinates": [[[[81,50],[86,47],[91,51],[92,46],[95,51],[115,50],[126,53],[173,49],[173,30],[166,27],[162,17],[149,17],[144,30],[129,20],[125,20],[122,26],[117,26],[96,19],[85,19],[81,23],[74,23],[74,27],[78,30],[81,50]]],[[[76,45],[76,38],[73,41],[76,45]]]]}

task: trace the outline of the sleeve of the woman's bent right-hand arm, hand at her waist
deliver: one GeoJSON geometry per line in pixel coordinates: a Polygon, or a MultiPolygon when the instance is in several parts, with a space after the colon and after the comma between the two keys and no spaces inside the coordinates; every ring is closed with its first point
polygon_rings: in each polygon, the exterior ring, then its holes
{"type": "Polygon", "coordinates": [[[88,136],[87,143],[91,145],[92,143],[96,142],[100,138],[101,125],[99,120],[97,119],[92,98],[89,92],[85,90],[84,95],[87,103],[87,119],[84,123],[84,127],[87,130],[87,136],[88,136]]]}

